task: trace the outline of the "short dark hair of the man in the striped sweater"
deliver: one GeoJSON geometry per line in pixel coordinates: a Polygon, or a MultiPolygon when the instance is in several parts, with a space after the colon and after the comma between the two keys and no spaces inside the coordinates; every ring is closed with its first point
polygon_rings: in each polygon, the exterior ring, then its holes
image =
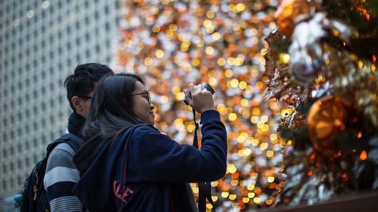
{"type": "Polygon", "coordinates": [[[98,63],[80,64],[75,68],[74,74],[64,80],[67,89],[67,99],[72,110],[76,112],[71,102],[73,96],[88,95],[95,89],[95,83],[105,75],[111,75],[113,71],[107,66],[98,63]]]}

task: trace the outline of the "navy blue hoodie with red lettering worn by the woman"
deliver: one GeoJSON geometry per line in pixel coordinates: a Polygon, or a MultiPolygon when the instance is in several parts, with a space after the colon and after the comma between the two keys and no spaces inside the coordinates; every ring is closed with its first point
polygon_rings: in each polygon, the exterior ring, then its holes
{"type": "Polygon", "coordinates": [[[149,124],[130,127],[113,145],[105,142],[73,192],[90,212],[190,212],[185,183],[226,173],[227,133],[219,113],[204,112],[201,123],[200,150],[149,124]]]}

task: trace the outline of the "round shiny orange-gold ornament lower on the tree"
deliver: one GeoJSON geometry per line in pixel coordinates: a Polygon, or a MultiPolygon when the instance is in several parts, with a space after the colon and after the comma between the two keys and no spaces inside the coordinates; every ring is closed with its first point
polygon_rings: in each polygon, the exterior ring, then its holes
{"type": "Polygon", "coordinates": [[[307,116],[307,125],[316,151],[330,156],[337,153],[336,135],[344,129],[346,116],[345,103],[337,96],[315,101],[307,116]]]}

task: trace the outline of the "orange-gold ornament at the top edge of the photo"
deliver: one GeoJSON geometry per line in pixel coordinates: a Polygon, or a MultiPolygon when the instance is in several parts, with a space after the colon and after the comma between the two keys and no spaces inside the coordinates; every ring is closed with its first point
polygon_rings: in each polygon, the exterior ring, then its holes
{"type": "Polygon", "coordinates": [[[295,18],[301,14],[309,14],[310,5],[306,0],[283,0],[274,13],[278,26],[286,36],[291,37],[295,18]]]}

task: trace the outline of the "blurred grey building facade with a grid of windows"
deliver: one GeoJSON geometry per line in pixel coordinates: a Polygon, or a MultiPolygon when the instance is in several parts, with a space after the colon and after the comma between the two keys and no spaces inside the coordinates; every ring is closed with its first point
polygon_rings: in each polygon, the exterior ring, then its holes
{"type": "Polygon", "coordinates": [[[119,0],[0,0],[0,211],[65,132],[65,77],[112,65],[119,20],[119,0]]]}

